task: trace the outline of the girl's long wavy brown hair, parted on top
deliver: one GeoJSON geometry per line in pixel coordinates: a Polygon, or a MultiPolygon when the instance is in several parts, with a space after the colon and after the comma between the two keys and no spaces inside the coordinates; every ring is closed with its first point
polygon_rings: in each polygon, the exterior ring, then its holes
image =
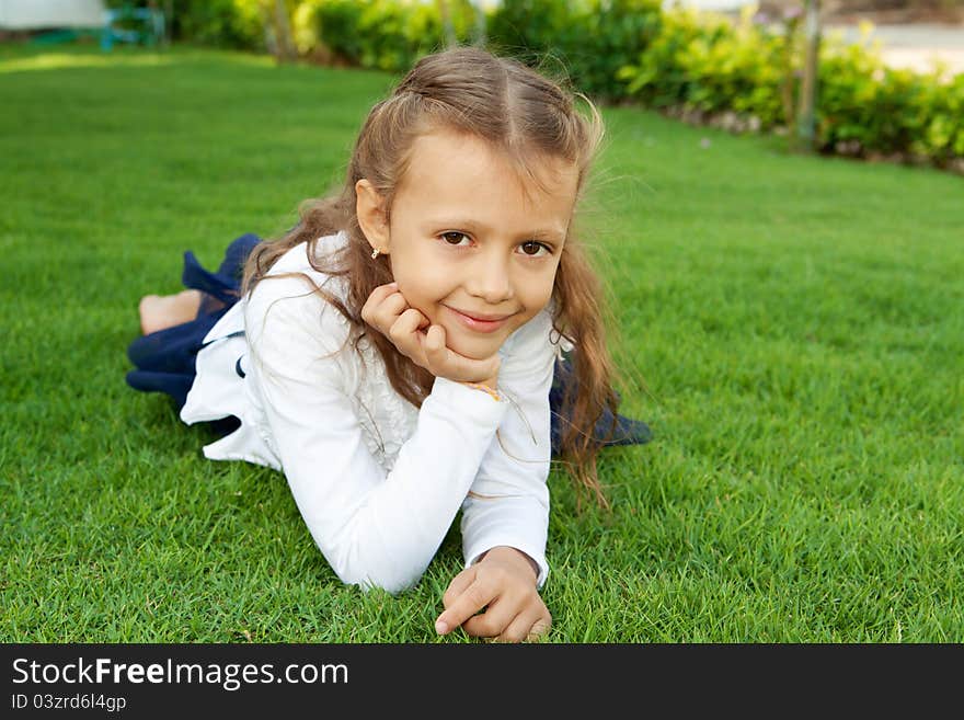
{"type": "MultiPolygon", "coordinates": [[[[347,318],[356,351],[358,340],[368,335],[385,361],[392,387],[416,408],[422,407],[435,378],[399,353],[380,332],[367,333],[362,319],[362,307],[371,292],[393,278],[386,258],[370,256],[370,245],[355,212],[355,183],[367,179],[390,213],[414,139],[439,127],[486,140],[503,151],[528,182],[539,182],[532,169],[547,156],[574,163],[578,168],[576,205],[604,136],[602,119],[588,98],[564,90],[561,82],[516,60],[477,47],[455,47],[425,56],[389,98],[371,108],[355,142],[341,192],[301,203],[300,222],[251,253],[242,284],[242,293],[251,292],[278,258],[308,242],[312,267],[329,275],[347,276],[344,304],[321,288],[315,292],[347,318]],[[588,106],[588,117],[576,111],[576,98],[588,106]],[[315,245],[322,237],[338,231],[346,232],[348,238],[343,253],[337,253],[338,266],[322,265],[324,253],[319,258],[315,245]]],[[[575,382],[567,386],[563,398],[563,408],[570,409],[572,422],[564,423],[562,428],[561,456],[571,471],[579,502],[588,491],[601,506],[608,507],[596,470],[599,447],[592,436],[604,408],[609,408],[613,416],[617,412],[612,385],[618,370],[606,342],[611,316],[598,276],[575,237],[574,225],[575,217],[570,222],[552,293],[552,340],[559,342],[555,335],[565,336],[577,351],[573,355],[575,382]],[[577,393],[572,392],[574,386],[578,387],[577,393]]],[[[328,259],[334,258],[335,253],[331,253],[328,259]]]]}

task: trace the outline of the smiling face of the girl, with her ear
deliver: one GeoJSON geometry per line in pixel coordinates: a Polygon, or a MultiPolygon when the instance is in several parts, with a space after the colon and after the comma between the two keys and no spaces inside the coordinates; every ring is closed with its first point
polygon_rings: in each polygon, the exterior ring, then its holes
{"type": "Polygon", "coordinates": [[[549,302],[577,172],[548,159],[539,173],[549,192],[530,186],[527,195],[484,140],[435,130],[413,145],[390,226],[366,212],[377,196],[365,180],[356,187],[358,219],[372,247],[388,252],[409,305],[445,328],[451,350],[482,359],[549,302]]]}

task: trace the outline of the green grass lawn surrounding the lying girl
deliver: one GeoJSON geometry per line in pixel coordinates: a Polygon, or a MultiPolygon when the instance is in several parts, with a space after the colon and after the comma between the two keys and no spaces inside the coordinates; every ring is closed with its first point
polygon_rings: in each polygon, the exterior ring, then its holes
{"type": "MultiPolygon", "coordinates": [[[[140,296],[292,225],[393,80],[0,46],[0,640],[436,640],[457,526],[343,586],[279,473],[124,381],[140,296]]],[[[605,117],[583,221],[654,439],[601,456],[610,516],[553,470],[550,640],[964,640],[964,180],[605,117]]]]}

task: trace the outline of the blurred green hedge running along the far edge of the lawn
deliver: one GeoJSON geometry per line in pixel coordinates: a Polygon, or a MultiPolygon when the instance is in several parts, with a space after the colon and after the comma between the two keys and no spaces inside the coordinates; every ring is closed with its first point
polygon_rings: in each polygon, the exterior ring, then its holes
{"type": "MultiPolygon", "coordinates": [[[[285,0],[298,53],[403,72],[446,45],[437,0],[285,0]]],[[[112,0],[108,4],[131,4],[112,0]]],[[[144,2],[140,2],[144,4],[144,2]]],[[[160,5],[163,7],[164,2],[160,5]]],[[[171,0],[175,41],[263,52],[275,0],[171,0]]],[[[737,22],[659,0],[503,0],[484,16],[447,0],[452,37],[485,43],[604,103],[639,103],[738,132],[794,136],[799,9],[737,22]]],[[[868,43],[824,37],[817,148],[964,170],[964,73],[885,66],[868,43]]]]}

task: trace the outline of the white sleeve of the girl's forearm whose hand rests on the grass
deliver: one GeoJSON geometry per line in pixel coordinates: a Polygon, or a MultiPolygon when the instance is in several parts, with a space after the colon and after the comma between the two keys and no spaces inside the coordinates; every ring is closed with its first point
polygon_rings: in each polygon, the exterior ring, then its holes
{"type": "Polygon", "coordinates": [[[486,550],[506,545],[536,561],[540,588],[549,574],[546,480],[551,458],[549,390],[556,357],[556,345],[549,341],[551,329],[551,316],[543,310],[518,330],[503,358],[498,389],[515,402],[482,459],[462,504],[461,521],[467,568],[486,550]]]}

